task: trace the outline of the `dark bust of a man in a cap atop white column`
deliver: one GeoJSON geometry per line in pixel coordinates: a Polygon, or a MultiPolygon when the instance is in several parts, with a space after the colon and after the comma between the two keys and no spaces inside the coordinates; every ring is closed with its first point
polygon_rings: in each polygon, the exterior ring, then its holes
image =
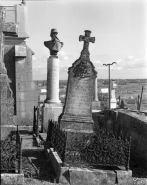
{"type": "Polygon", "coordinates": [[[57,53],[63,47],[63,42],[60,42],[57,37],[57,34],[57,30],[52,29],[50,34],[52,40],[44,42],[44,45],[50,50],[50,55],[57,55],[57,53]]]}

